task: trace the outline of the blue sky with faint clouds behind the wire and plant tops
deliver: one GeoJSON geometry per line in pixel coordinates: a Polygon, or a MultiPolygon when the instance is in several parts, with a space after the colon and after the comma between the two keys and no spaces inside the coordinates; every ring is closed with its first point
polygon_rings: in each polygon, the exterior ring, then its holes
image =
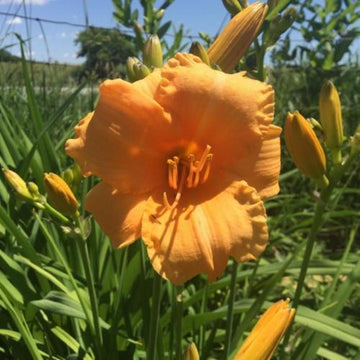
{"type": "MultiPolygon", "coordinates": [[[[138,3],[137,0],[133,1],[138,3]]],[[[111,0],[86,0],[89,24],[94,26],[114,27],[113,5],[111,0]]],[[[158,3],[162,3],[159,1],[158,3]]],[[[0,0],[0,12],[27,15],[56,21],[85,24],[83,0],[0,0]]],[[[173,24],[184,24],[189,35],[204,31],[214,35],[229,16],[221,0],[176,0],[165,12],[165,19],[173,24]]],[[[81,28],[67,25],[55,25],[26,21],[19,16],[0,14],[0,46],[19,54],[19,46],[12,32],[21,34],[24,39],[31,39],[32,57],[40,61],[75,63],[83,59],[76,58],[77,47],[74,45],[76,34],[81,28]],[[45,41],[46,40],[46,41],[45,41]],[[47,44],[47,46],[46,46],[47,44]]]]}

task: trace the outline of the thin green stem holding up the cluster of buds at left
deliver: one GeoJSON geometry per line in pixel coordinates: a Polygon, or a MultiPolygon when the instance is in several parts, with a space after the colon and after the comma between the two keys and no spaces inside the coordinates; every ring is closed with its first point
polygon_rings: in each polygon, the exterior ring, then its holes
{"type": "Polygon", "coordinates": [[[86,235],[84,232],[84,228],[83,228],[83,224],[82,224],[80,216],[76,216],[76,221],[79,226],[80,235],[81,235],[81,239],[78,242],[78,244],[79,244],[80,251],[81,251],[81,257],[82,257],[82,261],[84,264],[85,276],[86,276],[87,285],[88,285],[90,305],[91,305],[93,324],[94,324],[94,330],[95,330],[95,344],[96,344],[96,348],[97,348],[98,358],[102,359],[103,339],[102,339],[102,333],[101,333],[100,322],[99,322],[99,308],[98,308],[98,301],[97,301],[97,295],[96,295],[96,290],[95,290],[94,275],[93,275],[92,269],[91,269],[89,249],[87,246],[86,235]]]}

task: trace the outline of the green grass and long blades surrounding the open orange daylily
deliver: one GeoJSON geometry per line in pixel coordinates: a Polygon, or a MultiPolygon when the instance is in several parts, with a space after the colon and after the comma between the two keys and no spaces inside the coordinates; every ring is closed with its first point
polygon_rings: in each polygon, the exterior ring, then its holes
{"type": "MultiPolygon", "coordinates": [[[[331,79],[340,92],[345,134],[351,136],[360,122],[358,72],[358,66],[316,74],[301,67],[270,70],[275,122],[283,126],[287,112],[296,109],[318,118],[318,94],[331,79]]],[[[73,166],[64,143],[97,101],[98,84],[78,84],[73,73],[73,66],[60,64],[0,64],[0,165],[36,183],[42,194],[44,172],[62,174],[73,166]]],[[[350,153],[347,141],[343,153],[350,153]]],[[[175,359],[178,348],[193,341],[201,359],[221,359],[232,294],[231,349],[237,349],[265,308],[296,297],[313,237],[290,338],[274,359],[360,359],[359,165],[358,156],[340,171],[330,160],[333,180],[319,195],[284,145],[281,192],[265,203],[270,232],[265,253],[239,265],[235,282],[232,260],[212,283],[202,275],[181,287],[163,282],[157,347],[165,355],[158,358],[175,359]]],[[[73,183],[80,204],[95,182],[73,183]]],[[[0,358],[145,358],[155,275],[144,245],[113,249],[81,212],[87,219],[82,225],[91,228],[86,245],[74,227],[17,199],[0,173],[0,358]]]]}

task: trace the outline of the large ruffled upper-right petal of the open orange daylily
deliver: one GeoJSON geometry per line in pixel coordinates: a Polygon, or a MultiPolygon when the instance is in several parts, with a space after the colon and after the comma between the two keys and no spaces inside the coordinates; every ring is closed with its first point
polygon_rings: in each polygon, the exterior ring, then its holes
{"type": "Polygon", "coordinates": [[[279,160],[263,167],[265,151],[274,139],[271,159],[279,155],[279,128],[270,128],[274,113],[274,94],[271,86],[239,74],[214,71],[190,54],[177,54],[162,69],[162,80],[155,99],[171,113],[179,124],[179,136],[185,142],[209,144],[214,154],[213,168],[241,174],[259,191],[275,194],[274,178],[279,173],[279,160]],[[186,106],[184,106],[186,104],[186,106]],[[257,164],[259,161],[259,164],[257,164]],[[250,167],[242,169],[242,164],[250,167]],[[251,176],[252,169],[260,175],[251,176]],[[262,170],[264,169],[264,170],[262,170]],[[254,179],[256,181],[253,181],[254,179]]]}

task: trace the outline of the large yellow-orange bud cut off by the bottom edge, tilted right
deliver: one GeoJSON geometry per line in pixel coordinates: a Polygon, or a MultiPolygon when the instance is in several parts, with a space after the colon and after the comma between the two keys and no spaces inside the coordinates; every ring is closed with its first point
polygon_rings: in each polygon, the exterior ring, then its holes
{"type": "Polygon", "coordinates": [[[270,360],[295,316],[289,300],[271,305],[246,338],[234,360],[270,360]]]}

